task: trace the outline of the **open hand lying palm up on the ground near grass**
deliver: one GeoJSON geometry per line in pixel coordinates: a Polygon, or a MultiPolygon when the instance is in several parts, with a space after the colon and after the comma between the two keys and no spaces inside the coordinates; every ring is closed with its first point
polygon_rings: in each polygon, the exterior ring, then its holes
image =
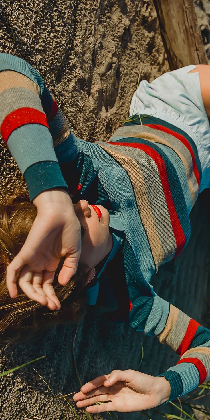
{"type": "Polygon", "coordinates": [[[168,400],[171,387],[164,377],[154,377],[135,370],[113,370],[81,387],[74,395],[77,407],[89,413],[146,410],[168,400]],[[100,405],[91,405],[103,402],[100,405]]]}

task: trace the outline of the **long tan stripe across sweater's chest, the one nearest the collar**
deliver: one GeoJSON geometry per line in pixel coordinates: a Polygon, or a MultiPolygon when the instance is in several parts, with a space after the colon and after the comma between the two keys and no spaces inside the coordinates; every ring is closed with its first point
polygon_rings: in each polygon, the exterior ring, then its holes
{"type": "Polygon", "coordinates": [[[140,170],[139,165],[135,162],[135,160],[129,157],[128,155],[125,156],[123,153],[117,150],[113,150],[113,148],[104,146],[102,144],[100,144],[100,147],[102,147],[111,156],[113,156],[129,174],[134,188],[140,217],[142,219],[144,228],[147,232],[147,237],[150,242],[152,255],[155,260],[155,265],[157,269],[158,265],[160,265],[163,261],[163,250],[160,244],[160,239],[155,226],[155,222],[152,217],[152,212],[150,209],[150,203],[147,198],[147,191],[144,184],[144,177],[142,175],[142,171],[140,170]]]}

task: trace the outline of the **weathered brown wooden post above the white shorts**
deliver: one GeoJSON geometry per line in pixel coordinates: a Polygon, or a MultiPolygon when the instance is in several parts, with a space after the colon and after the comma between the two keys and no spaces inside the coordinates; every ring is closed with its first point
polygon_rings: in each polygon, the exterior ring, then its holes
{"type": "Polygon", "coordinates": [[[193,0],[153,0],[171,70],[207,64],[193,0]]]}

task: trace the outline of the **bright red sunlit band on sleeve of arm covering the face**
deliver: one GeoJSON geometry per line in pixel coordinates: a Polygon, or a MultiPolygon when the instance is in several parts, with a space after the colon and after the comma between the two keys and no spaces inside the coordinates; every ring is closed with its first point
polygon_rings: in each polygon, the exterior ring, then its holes
{"type": "Polygon", "coordinates": [[[18,108],[6,115],[0,126],[5,143],[7,144],[8,138],[14,130],[26,124],[41,124],[49,128],[45,113],[34,108],[18,108]]]}

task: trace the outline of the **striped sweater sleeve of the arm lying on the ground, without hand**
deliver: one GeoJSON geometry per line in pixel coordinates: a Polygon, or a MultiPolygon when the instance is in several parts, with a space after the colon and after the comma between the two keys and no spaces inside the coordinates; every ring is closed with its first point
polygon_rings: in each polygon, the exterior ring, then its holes
{"type": "MultiPolygon", "coordinates": [[[[160,343],[168,344],[181,356],[176,366],[158,375],[170,382],[169,402],[210,378],[210,331],[158,297],[152,291],[152,286],[150,288],[150,296],[147,293],[147,297],[139,298],[139,315],[136,313],[133,328],[156,336],[160,343]]],[[[135,308],[132,310],[135,312],[135,308]]]]}

